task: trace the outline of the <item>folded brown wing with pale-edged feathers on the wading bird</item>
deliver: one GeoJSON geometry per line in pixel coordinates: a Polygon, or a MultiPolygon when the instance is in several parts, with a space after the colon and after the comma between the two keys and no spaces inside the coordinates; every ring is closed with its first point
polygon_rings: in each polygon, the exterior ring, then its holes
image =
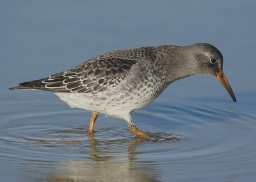
{"type": "Polygon", "coordinates": [[[44,79],[20,83],[10,89],[38,89],[61,93],[98,93],[116,86],[125,79],[138,61],[110,57],[90,59],[76,68],[51,75],[44,79]]]}

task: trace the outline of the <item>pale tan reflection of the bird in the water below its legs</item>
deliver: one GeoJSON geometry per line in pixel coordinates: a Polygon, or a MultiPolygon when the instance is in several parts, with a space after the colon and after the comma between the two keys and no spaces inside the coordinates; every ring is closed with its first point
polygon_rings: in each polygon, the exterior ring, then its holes
{"type": "MultiPolygon", "coordinates": [[[[89,134],[88,134],[89,135],[89,134]]],[[[133,137],[127,140],[100,140],[90,135],[91,151],[79,151],[84,160],[69,160],[61,162],[58,172],[47,181],[157,181],[161,171],[150,164],[154,161],[140,160],[143,152],[136,152],[136,147],[147,142],[159,142],[162,139],[155,136],[151,139],[133,137]],[[102,151],[104,146],[116,144],[115,151],[102,151]],[[127,151],[118,150],[118,144],[126,146],[127,151]]],[[[164,139],[163,139],[164,140],[164,139]]],[[[180,140],[178,137],[168,137],[170,142],[180,140]]],[[[105,148],[108,150],[108,147],[105,148]]],[[[119,149],[120,150],[120,149],[119,149]]]]}

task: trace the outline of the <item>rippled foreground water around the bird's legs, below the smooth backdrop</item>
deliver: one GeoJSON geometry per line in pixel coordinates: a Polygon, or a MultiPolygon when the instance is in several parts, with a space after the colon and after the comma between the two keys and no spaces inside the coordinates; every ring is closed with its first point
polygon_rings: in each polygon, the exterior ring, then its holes
{"type": "MultiPolygon", "coordinates": [[[[6,93],[6,91],[4,91],[6,93]]],[[[120,119],[70,109],[40,91],[2,98],[1,176],[8,181],[253,181],[255,93],[211,98],[162,96],[134,112],[151,136],[134,136],[120,119]],[[14,173],[13,173],[14,172],[14,173]]],[[[2,180],[3,181],[3,180],[2,180]]]]}

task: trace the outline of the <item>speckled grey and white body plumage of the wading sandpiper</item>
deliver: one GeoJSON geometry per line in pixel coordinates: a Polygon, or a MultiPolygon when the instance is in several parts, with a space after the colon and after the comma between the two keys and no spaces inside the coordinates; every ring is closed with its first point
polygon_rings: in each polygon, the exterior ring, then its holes
{"type": "MultiPolygon", "coordinates": [[[[208,43],[141,47],[108,52],[65,72],[10,89],[52,91],[70,107],[122,118],[130,127],[134,126],[130,113],[153,102],[175,80],[194,74],[221,78],[222,66],[221,52],[208,43]]],[[[229,84],[226,89],[236,100],[229,84]]]]}

